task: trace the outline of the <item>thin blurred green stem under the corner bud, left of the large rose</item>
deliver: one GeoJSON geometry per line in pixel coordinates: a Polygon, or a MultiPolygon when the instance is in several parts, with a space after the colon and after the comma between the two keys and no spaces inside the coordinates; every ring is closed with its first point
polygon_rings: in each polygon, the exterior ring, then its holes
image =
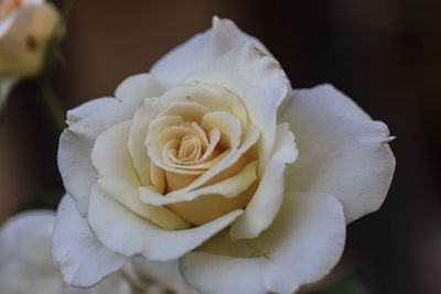
{"type": "Polygon", "coordinates": [[[42,98],[42,102],[49,116],[51,117],[56,130],[58,132],[62,132],[66,127],[66,123],[64,121],[65,111],[63,107],[60,105],[58,100],[56,99],[55,95],[46,83],[40,83],[39,91],[42,98]]]}

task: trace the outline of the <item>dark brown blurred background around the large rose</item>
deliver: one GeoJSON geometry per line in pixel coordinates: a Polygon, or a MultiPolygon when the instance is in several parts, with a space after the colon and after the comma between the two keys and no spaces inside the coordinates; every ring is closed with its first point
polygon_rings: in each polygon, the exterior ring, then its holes
{"type": "MultiPolygon", "coordinates": [[[[332,83],[397,137],[385,205],[349,225],[336,272],[351,268],[374,294],[441,293],[441,1],[76,1],[53,75],[63,107],[111,96],[214,14],[259,37],[295,88],[332,83]]],[[[41,108],[17,89],[1,121],[0,221],[63,193],[41,108]]]]}

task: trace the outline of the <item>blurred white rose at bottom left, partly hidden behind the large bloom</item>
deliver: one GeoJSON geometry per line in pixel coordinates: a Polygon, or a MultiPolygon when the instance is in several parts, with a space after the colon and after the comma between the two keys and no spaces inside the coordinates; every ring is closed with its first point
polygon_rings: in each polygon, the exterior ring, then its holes
{"type": "MultiPolygon", "coordinates": [[[[68,199],[67,199],[68,200],[68,199]]],[[[137,272],[137,260],[93,288],[67,285],[52,260],[55,214],[32,210],[9,219],[0,229],[0,285],[6,294],[161,294],[192,293],[178,266],[150,263],[137,272]],[[169,280],[158,277],[166,274],[169,280]],[[142,274],[142,275],[141,275],[142,274]],[[143,281],[140,281],[140,280],[143,281]]],[[[78,226],[78,225],[77,225],[78,226]]],[[[80,226],[80,225],[79,225],[80,226]]],[[[87,226],[87,225],[86,225],[87,226]]]]}

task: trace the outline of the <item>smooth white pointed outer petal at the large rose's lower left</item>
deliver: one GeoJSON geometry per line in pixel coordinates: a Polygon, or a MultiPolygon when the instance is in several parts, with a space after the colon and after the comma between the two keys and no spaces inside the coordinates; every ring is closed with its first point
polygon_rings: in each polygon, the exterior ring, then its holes
{"type": "Polygon", "coordinates": [[[53,257],[64,280],[74,286],[89,287],[118,271],[126,258],[109,251],[94,236],[73,199],[62,199],[53,232],[53,257]]]}

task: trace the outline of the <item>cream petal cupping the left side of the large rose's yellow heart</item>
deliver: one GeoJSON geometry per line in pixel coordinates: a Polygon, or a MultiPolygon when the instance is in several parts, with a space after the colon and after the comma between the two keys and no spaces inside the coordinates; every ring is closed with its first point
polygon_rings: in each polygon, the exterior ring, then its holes
{"type": "Polygon", "coordinates": [[[97,138],[90,155],[99,177],[97,183],[106,195],[158,226],[166,229],[186,228],[189,224],[169,209],[159,209],[139,200],[138,187],[141,183],[127,149],[130,124],[130,121],[118,123],[97,138]]]}

